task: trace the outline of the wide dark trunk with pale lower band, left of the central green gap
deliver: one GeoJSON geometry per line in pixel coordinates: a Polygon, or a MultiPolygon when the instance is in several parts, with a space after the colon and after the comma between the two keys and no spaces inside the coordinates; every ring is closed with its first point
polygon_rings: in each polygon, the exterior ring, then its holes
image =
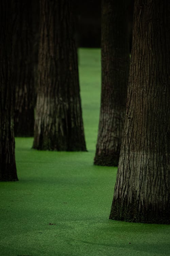
{"type": "Polygon", "coordinates": [[[71,1],[40,1],[33,148],[86,151],[71,1]]]}

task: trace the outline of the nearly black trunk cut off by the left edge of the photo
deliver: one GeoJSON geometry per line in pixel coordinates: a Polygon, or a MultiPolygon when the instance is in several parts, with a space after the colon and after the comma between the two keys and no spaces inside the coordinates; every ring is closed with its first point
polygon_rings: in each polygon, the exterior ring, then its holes
{"type": "Polygon", "coordinates": [[[17,181],[11,81],[11,1],[0,1],[0,181],[17,181]]]}

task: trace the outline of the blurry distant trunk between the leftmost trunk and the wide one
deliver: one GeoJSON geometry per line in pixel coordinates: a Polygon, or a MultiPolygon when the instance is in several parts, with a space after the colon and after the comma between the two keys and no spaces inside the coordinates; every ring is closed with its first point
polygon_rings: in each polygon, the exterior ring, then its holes
{"type": "Polygon", "coordinates": [[[15,1],[13,15],[13,82],[14,82],[14,133],[29,137],[34,134],[34,61],[31,1],[15,1]]]}

